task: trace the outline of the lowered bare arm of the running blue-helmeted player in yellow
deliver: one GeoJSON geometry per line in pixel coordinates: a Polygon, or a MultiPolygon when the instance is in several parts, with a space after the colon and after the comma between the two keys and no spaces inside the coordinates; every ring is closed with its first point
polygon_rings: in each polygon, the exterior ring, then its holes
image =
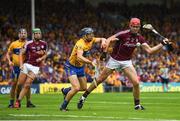
{"type": "Polygon", "coordinates": [[[91,64],[91,65],[95,66],[95,63],[93,63],[92,61],[90,61],[89,59],[87,59],[83,56],[83,52],[84,51],[81,49],[77,50],[77,59],[84,62],[84,63],[91,64]]]}

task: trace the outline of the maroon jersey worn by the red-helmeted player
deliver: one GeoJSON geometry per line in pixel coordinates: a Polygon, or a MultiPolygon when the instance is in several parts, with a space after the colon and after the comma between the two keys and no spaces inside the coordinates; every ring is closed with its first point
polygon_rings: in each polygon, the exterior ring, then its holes
{"type": "Polygon", "coordinates": [[[130,30],[120,31],[115,36],[119,40],[115,43],[111,57],[119,61],[130,60],[134,49],[137,47],[136,44],[146,43],[142,35],[135,35],[130,30]]]}

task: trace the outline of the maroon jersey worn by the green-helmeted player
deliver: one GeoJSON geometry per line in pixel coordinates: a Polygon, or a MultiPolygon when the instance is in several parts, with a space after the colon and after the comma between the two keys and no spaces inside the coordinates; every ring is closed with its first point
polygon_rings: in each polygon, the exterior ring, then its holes
{"type": "Polygon", "coordinates": [[[26,63],[29,63],[33,66],[40,67],[41,62],[37,62],[36,60],[42,57],[47,51],[47,43],[45,41],[28,41],[25,44],[26,50],[26,63]]]}

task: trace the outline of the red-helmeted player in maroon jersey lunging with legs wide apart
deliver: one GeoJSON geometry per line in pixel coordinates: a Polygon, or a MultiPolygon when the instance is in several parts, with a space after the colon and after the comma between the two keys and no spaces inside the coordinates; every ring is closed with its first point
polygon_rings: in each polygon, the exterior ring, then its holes
{"type": "Polygon", "coordinates": [[[140,26],[140,19],[132,18],[129,23],[129,29],[120,31],[107,39],[107,48],[112,41],[115,41],[113,52],[111,53],[106,67],[104,67],[100,76],[81,96],[77,105],[79,109],[82,108],[85,99],[97,87],[97,85],[106,80],[113,70],[117,69],[121,70],[133,84],[134,109],[144,110],[144,107],[140,105],[140,88],[137,72],[131,61],[133,51],[137,46],[141,45],[142,49],[144,49],[147,53],[153,54],[159,51],[163,45],[166,45],[168,43],[168,39],[164,39],[158,45],[150,47],[144,37],[138,33],[140,26]]]}

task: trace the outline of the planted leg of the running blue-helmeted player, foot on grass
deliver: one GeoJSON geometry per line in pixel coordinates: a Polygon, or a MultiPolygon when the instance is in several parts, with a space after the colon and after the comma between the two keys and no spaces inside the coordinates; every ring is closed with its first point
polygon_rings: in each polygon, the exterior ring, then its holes
{"type": "Polygon", "coordinates": [[[80,84],[77,75],[69,76],[69,81],[72,87],[71,90],[67,93],[63,103],[60,106],[61,111],[67,111],[67,105],[69,104],[70,100],[80,90],[80,84]]]}

